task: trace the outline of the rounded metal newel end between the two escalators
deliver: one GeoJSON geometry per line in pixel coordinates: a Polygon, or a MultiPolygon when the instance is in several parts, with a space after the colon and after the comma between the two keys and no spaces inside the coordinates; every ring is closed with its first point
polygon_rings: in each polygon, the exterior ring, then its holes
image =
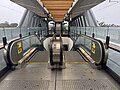
{"type": "Polygon", "coordinates": [[[50,41],[50,61],[49,68],[51,69],[63,69],[65,64],[63,61],[63,44],[61,35],[56,37],[53,35],[50,41]]]}

